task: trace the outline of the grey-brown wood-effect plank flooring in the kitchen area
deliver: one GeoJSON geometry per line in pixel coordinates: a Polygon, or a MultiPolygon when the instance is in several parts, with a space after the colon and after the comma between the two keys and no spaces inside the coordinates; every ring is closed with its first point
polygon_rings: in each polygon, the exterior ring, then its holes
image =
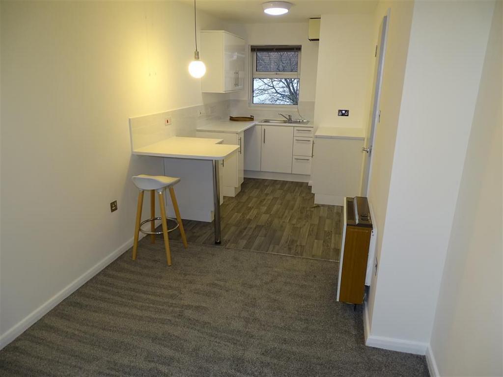
{"type": "MultiPolygon", "coordinates": [[[[315,205],[307,183],[245,178],[241,192],[221,206],[222,245],[338,261],[342,213],[339,206],[315,205]]],[[[185,220],[184,226],[189,244],[214,243],[213,223],[185,220]]],[[[180,232],[170,239],[180,240],[180,232]]]]}

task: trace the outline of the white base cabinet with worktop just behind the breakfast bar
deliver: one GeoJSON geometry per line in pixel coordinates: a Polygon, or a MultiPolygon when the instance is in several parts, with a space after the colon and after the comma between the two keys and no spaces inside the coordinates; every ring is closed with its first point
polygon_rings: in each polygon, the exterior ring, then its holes
{"type": "Polygon", "coordinates": [[[221,192],[226,197],[236,196],[236,194],[241,191],[241,183],[244,180],[243,133],[197,132],[196,136],[201,138],[222,139],[222,144],[239,146],[238,151],[225,158],[223,164],[220,165],[223,174],[223,179],[221,179],[221,192]]]}

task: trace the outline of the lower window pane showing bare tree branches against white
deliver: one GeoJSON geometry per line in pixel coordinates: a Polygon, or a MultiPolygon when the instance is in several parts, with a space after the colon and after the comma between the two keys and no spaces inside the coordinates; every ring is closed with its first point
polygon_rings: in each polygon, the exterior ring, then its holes
{"type": "Polygon", "coordinates": [[[253,103],[270,105],[297,105],[298,78],[254,78],[253,103]]]}

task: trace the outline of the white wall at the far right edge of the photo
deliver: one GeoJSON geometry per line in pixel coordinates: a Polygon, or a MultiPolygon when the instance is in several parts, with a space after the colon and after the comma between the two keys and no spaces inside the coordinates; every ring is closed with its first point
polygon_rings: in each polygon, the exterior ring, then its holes
{"type": "Polygon", "coordinates": [[[501,8],[497,2],[431,339],[442,376],[503,375],[501,8]]]}

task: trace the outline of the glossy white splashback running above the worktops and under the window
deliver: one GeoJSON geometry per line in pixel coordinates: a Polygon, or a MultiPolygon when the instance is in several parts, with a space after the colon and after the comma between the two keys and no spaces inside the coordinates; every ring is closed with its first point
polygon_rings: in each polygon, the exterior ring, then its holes
{"type": "MultiPolygon", "coordinates": [[[[314,102],[300,102],[299,112],[304,119],[312,121],[314,102]]],[[[300,118],[297,107],[292,110],[256,109],[250,108],[246,100],[224,100],[129,118],[131,148],[142,148],[173,136],[196,137],[198,125],[209,119],[228,119],[229,115],[253,115],[256,120],[281,119],[278,113],[291,115],[293,119],[300,118]],[[165,125],[166,118],[171,118],[170,125],[165,125]]]]}

